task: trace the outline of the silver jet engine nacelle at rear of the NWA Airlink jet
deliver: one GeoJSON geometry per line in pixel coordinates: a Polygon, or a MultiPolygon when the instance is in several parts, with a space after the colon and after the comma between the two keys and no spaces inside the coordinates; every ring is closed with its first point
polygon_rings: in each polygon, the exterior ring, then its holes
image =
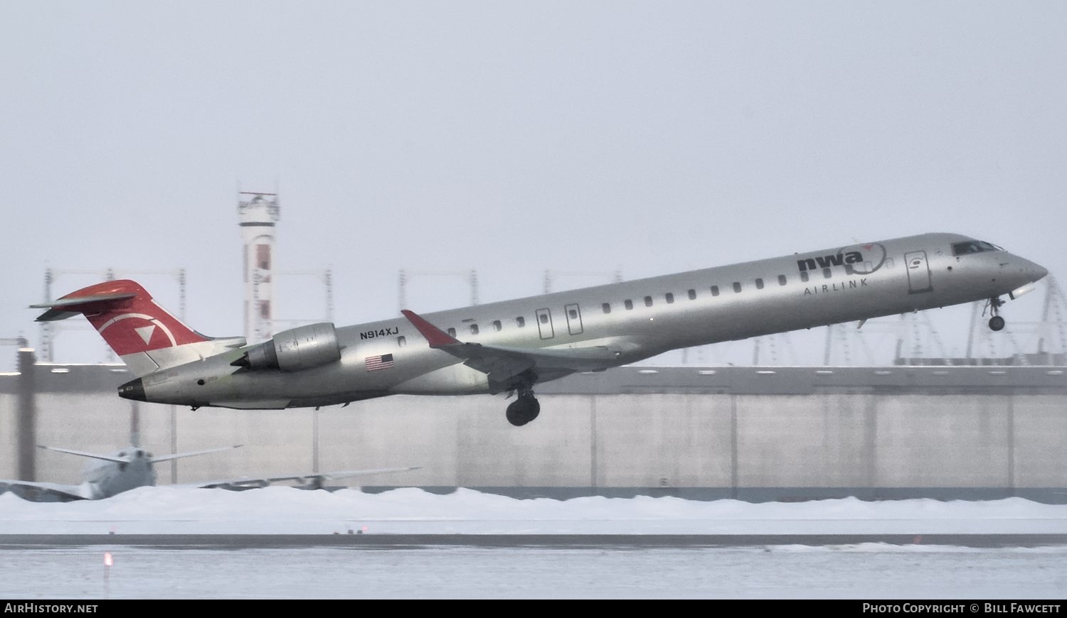
{"type": "Polygon", "coordinates": [[[330,322],[283,330],[230,364],[252,370],[303,371],[340,360],[337,331],[330,322]]]}

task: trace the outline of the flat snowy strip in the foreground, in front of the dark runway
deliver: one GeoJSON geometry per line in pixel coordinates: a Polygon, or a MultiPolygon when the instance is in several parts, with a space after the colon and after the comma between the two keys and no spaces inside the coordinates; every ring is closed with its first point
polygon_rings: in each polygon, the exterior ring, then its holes
{"type": "Polygon", "coordinates": [[[5,599],[1063,599],[1067,548],[75,546],[3,550],[5,599]],[[107,552],[111,567],[103,566],[107,552]]]}

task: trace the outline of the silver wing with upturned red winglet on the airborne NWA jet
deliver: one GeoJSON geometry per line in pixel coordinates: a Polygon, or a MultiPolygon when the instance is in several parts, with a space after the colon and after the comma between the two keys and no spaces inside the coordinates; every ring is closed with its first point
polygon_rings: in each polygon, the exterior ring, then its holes
{"type": "Polygon", "coordinates": [[[463,359],[467,367],[489,376],[490,386],[496,391],[510,390],[520,374],[536,370],[539,377],[562,377],[576,371],[601,371],[616,365],[620,351],[604,345],[570,349],[507,347],[464,343],[414,311],[400,311],[411,322],[430,347],[447,352],[463,359]]]}

